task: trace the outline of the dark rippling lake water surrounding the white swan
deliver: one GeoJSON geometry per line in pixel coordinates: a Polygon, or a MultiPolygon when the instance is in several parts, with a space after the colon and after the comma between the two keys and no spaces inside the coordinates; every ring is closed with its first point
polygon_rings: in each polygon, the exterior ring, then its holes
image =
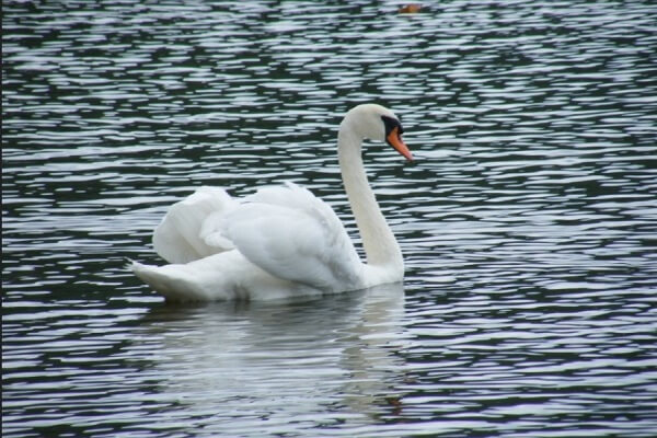
{"type": "Polygon", "coordinates": [[[657,435],[649,1],[3,2],[2,436],[657,435]],[[203,184],[290,180],[354,233],[339,115],[401,287],[166,306],[124,265],[203,184]]]}

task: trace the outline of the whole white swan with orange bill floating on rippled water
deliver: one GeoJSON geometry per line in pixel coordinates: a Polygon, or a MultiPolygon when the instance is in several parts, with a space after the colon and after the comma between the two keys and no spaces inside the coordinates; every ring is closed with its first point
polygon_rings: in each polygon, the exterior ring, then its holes
{"type": "Polygon", "coordinates": [[[241,200],[204,186],[174,204],[153,233],[169,262],[131,262],[137,277],[168,301],[275,300],[312,297],[402,281],[404,261],[362,165],[365,139],[385,141],[408,161],[394,113],[361,104],[337,134],[342,178],[367,263],[333,209],[291,182],[241,200]]]}

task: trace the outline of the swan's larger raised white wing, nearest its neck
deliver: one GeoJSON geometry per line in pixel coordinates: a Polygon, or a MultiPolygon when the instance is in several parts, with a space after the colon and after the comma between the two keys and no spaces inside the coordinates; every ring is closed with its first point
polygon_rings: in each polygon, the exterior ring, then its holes
{"type": "Polygon", "coordinates": [[[287,183],[247,197],[226,216],[224,234],[270,275],[320,289],[358,287],[362,264],[333,209],[287,183]]]}

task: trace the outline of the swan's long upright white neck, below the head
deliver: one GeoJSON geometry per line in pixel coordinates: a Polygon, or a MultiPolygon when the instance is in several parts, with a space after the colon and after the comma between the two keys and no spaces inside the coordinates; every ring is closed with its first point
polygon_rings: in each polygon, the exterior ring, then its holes
{"type": "Polygon", "coordinates": [[[362,139],[353,134],[348,126],[343,125],[337,141],[342,177],[360,231],[367,262],[373,266],[403,273],[402,252],[381,214],[365,173],[360,150],[362,139]]]}

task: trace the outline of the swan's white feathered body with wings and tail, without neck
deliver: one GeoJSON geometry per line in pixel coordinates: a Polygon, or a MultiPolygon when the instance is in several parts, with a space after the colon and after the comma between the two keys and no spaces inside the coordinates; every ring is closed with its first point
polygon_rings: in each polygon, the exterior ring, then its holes
{"type": "Polygon", "coordinates": [[[158,253],[174,263],[134,262],[131,269],[172,301],[268,300],[364,287],[364,265],[333,209],[292,183],[241,203],[201,187],[171,208],[154,240],[158,253]]]}

